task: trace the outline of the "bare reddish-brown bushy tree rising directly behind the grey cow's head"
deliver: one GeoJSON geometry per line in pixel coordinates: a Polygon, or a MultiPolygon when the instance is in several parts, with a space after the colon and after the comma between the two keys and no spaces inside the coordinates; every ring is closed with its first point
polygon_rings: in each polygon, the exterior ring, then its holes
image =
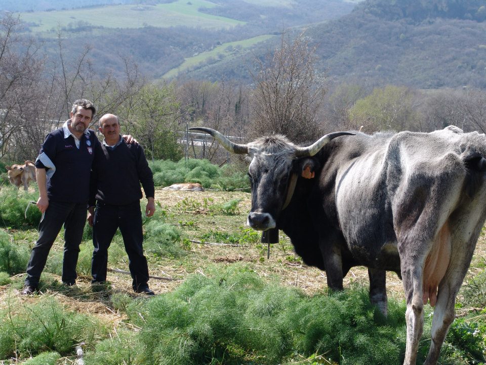
{"type": "Polygon", "coordinates": [[[326,90],[314,71],[314,52],[303,33],[291,41],[284,32],[278,49],[269,50],[263,60],[255,58],[252,138],[281,133],[301,142],[321,134],[316,116],[326,90]]]}

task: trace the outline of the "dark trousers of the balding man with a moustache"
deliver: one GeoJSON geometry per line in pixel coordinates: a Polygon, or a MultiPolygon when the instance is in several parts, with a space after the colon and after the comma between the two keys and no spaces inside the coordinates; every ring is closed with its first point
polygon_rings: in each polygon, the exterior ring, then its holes
{"type": "Polygon", "coordinates": [[[148,265],[143,254],[142,214],[140,201],[127,205],[96,204],[93,222],[93,260],[91,274],[93,282],[106,280],[108,265],[108,247],[119,228],[125,251],[128,253],[128,265],[132,274],[134,290],[147,287],[148,265]]]}

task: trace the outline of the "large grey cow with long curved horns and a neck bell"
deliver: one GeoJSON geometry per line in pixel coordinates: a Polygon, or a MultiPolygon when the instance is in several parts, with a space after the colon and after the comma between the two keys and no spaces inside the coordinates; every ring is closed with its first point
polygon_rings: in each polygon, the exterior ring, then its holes
{"type": "Polygon", "coordinates": [[[486,219],[484,134],[454,126],[336,139],[342,133],[332,133],[301,148],[278,135],[235,144],[215,130],[191,129],[249,155],[249,225],[284,230],[306,263],[326,270],[329,287],[342,289],[347,270],[365,265],[372,301],[386,306],[384,270],[401,275],[404,364],[416,362],[430,301],[435,311],[425,363],[437,363],[486,219]]]}

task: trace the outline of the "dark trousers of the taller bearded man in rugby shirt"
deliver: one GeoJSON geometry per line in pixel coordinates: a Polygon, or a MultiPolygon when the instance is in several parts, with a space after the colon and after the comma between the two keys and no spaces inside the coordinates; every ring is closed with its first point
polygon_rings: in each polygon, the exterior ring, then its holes
{"type": "Polygon", "coordinates": [[[37,287],[46,266],[47,257],[57,235],[64,224],[64,259],[62,261],[62,281],[76,282],[76,265],[79,244],[83,239],[86,224],[86,203],[64,203],[49,201],[49,206],[39,223],[39,239],[32,248],[27,264],[25,285],[37,287]]]}

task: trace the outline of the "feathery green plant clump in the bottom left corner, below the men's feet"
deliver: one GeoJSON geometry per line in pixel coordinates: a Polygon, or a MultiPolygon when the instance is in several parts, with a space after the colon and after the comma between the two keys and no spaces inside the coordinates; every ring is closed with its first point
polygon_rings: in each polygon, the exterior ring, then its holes
{"type": "Polygon", "coordinates": [[[35,356],[56,351],[73,354],[75,345],[94,345],[106,336],[94,317],[65,310],[54,298],[35,304],[10,303],[0,317],[0,358],[35,356]]]}

